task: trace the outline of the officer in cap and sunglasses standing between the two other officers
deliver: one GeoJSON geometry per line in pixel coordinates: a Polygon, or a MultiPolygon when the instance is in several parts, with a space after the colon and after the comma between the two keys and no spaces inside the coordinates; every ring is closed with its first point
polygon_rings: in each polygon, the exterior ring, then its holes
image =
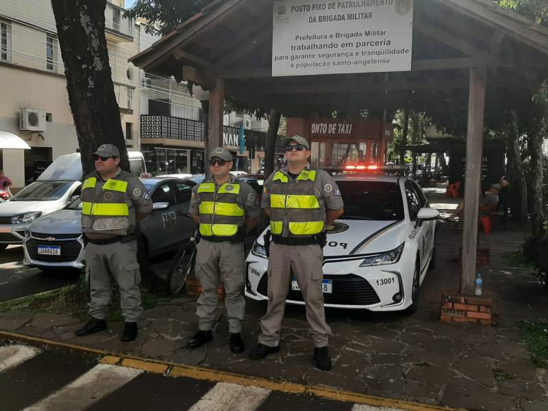
{"type": "Polygon", "coordinates": [[[229,173],[232,155],[218,147],[210,153],[211,177],[192,190],[189,212],[199,224],[196,276],[201,295],[197,301],[198,332],[186,345],[195,349],[212,340],[211,329],[219,302],[219,281],[225,286],[230,349],[244,350],[240,333],[245,312],[244,239],[260,217],[257,193],[229,173]]]}

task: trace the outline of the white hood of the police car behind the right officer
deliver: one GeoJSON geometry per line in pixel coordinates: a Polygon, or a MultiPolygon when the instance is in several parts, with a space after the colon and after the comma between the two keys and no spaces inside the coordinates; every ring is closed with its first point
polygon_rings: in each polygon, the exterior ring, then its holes
{"type": "MultiPolygon", "coordinates": [[[[266,232],[266,230],[265,230],[266,232]]],[[[346,256],[390,251],[406,240],[408,233],[404,221],[335,221],[327,234],[324,256],[346,256]]],[[[264,233],[258,242],[264,245],[264,233]]]]}

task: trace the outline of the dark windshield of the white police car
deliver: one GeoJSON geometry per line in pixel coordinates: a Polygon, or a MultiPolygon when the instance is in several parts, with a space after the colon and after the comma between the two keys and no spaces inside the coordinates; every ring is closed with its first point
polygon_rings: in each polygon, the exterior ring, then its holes
{"type": "Polygon", "coordinates": [[[345,202],[341,219],[403,220],[403,200],[396,182],[338,181],[345,202]]]}

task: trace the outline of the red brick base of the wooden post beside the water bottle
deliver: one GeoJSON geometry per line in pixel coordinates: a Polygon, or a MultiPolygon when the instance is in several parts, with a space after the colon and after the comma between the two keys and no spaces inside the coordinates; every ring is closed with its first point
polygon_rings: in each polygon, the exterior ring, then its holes
{"type": "Polygon", "coordinates": [[[490,293],[468,297],[466,295],[443,295],[441,321],[447,323],[482,323],[490,325],[493,297],[490,293]]]}

